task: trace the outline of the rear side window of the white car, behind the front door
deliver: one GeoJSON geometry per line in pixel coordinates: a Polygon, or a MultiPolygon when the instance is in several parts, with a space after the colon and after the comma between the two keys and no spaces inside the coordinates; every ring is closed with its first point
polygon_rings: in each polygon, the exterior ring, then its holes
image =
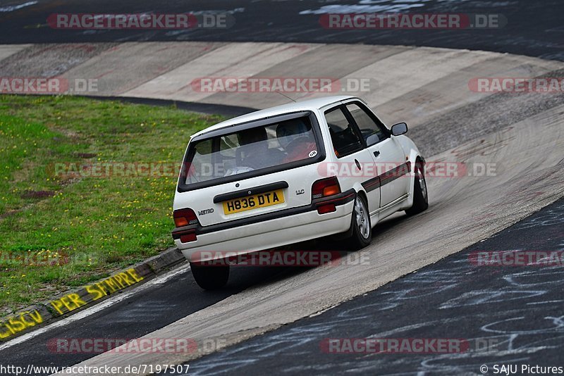
{"type": "Polygon", "coordinates": [[[333,149],[338,158],[362,149],[362,142],[341,107],[326,111],[325,118],[329,125],[333,149]]]}

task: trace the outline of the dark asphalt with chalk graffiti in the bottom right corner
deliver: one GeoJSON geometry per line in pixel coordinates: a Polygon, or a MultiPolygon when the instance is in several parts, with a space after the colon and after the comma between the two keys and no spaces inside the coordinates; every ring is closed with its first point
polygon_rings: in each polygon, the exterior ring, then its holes
{"type": "Polygon", "coordinates": [[[313,318],[190,363],[190,375],[478,372],[480,365],[562,364],[561,266],[472,265],[472,253],[564,247],[564,200],[484,242],[313,318]],[[533,242],[530,239],[534,239],[533,242]],[[326,353],[326,338],[465,338],[448,354],[326,353]],[[307,354],[307,356],[305,356],[307,354]],[[300,359],[301,361],[296,361],[300,359]],[[398,372],[400,370],[400,372],[398,372]]]}

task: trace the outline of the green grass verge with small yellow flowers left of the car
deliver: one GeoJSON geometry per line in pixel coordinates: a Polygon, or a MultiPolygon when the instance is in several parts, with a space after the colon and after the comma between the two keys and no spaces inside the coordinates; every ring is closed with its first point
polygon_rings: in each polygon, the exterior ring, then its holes
{"type": "Polygon", "coordinates": [[[173,245],[176,170],[68,176],[56,170],[61,163],[179,165],[190,134],[220,120],[72,96],[0,96],[0,315],[173,245]]]}

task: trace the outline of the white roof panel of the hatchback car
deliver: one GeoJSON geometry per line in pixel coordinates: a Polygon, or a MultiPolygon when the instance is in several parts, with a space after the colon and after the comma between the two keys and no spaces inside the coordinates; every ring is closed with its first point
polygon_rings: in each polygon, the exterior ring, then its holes
{"type": "Polygon", "coordinates": [[[340,101],[345,101],[346,99],[354,99],[355,96],[350,95],[336,95],[336,96],[324,96],[321,98],[307,99],[306,101],[290,102],[288,104],[283,104],[281,106],[275,106],[271,108],[265,108],[264,110],[254,111],[252,113],[247,113],[245,115],[240,115],[236,118],[222,121],[211,127],[207,127],[200,132],[192,134],[192,137],[200,136],[200,134],[205,134],[213,130],[219,130],[225,127],[231,127],[233,125],[238,125],[241,123],[248,123],[253,120],[260,120],[264,118],[269,118],[271,116],[283,115],[285,113],[293,113],[298,111],[313,111],[319,110],[319,108],[324,108],[329,104],[334,104],[340,101]]]}

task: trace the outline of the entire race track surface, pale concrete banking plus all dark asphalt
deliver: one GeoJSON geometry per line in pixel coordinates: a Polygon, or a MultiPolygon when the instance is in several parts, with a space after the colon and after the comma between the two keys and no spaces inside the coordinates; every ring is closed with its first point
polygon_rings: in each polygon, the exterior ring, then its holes
{"type": "MultiPolygon", "coordinates": [[[[475,77],[564,77],[561,1],[359,0],[341,7],[501,13],[508,20],[498,30],[384,32],[324,30],[319,14],[337,6],[335,1],[32,3],[0,4],[0,77],[102,77],[95,96],[156,105],[187,101],[188,110],[226,115],[288,99],[277,93],[195,92],[190,81],[368,78],[369,91],[350,94],[367,99],[388,125],[407,121],[407,135],[428,162],[459,163],[467,170],[455,177],[429,170],[429,210],[387,218],[374,228],[370,246],[343,253],[348,263],[234,267],[219,292],[203,292],[181,265],[100,306],[0,342],[0,363],[189,364],[190,375],[477,375],[480,365],[563,365],[562,265],[478,267],[470,255],[564,251],[564,94],[492,94],[469,86],[475,77]],[[18,4],[21,8],[13,8],[18,4]],[[46,25],[51,13],[101,9],[228,11],[237,22],[228,30],[187,32],[85,32],[46,25]],[[494,168],[489,174],[483,173],[486,165],[494,168]],[[360,259],[367,263],[354,262],[360,259]],[[56,353],[48,344],[61,337],[189,338],[199,348],[188,354],[56,353]],[[470,349],[324,351],[324,339],[369,337],[462,338],[470,349]],[[200,346],[205,341],[221,346],[200,346]]],[[[295,94],[298,99],[317,95],[295,94]]],[[[342,247],[321,239],[291,248],[342,247]]]]}

